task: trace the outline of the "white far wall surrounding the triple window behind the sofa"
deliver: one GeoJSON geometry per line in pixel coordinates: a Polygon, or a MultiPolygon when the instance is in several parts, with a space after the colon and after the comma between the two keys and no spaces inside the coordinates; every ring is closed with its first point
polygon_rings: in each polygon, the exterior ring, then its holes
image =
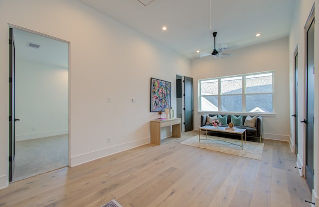
{"type": "MultiPolygon", "coordinates": [[[[228,51],[227,51],[228,52],[228,51]]],[[[288,141],[289,126],[289,61],[288,38],[229,51],[233,56],[214,59],[207,56],[191,62],[194,79],[194,110],[198,111],[198,80],[263,71],[274,71],[274,115],[264,115],[264,138],[288,141]]],[[[200,127],[200,115],[194,112],[194,127],[200,127]]]]}

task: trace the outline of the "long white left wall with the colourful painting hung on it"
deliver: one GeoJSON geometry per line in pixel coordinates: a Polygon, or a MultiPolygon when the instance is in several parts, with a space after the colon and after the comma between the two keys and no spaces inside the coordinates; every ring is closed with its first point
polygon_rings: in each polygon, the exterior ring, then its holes
{"type": "MultiPolygon", "coordinates": [[[[190,76],[188,59],[76,0],[0,1],[0,13],[2,43],[8,23],[70,42],[71,166],[149,143],[149,121],[158,117],[151,77],[172,83],[176,108],[176,74],[190,76]]],[[[8,66],[1,47],[0,188],[8,185],[8,66]]]]}

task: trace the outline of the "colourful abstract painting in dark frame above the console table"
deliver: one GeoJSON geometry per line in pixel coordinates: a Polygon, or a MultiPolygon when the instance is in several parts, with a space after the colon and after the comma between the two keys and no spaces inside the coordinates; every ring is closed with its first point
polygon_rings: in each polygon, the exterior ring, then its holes
{"type": "Polygon", "coordinates": [[[151,112],[170,108],[171,83],[151,78],[151,112]]]}

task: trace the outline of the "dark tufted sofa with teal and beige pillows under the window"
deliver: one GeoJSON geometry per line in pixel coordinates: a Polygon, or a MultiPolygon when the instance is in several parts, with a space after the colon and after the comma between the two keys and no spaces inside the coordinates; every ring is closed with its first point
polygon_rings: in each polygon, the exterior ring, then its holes
{"type": "MultiPolygon", "coordinates": [[[[240,116],[239,115],[228,114],[227,115],[227,124],[226,124],[225,123],[225,120],[226,120],[225,115],[226,114],[204,114],[204,115],[201,115],[200,126],[212,125],[211,120],[214,120],[217,117],[218,120],[223,120],[223,121],[221,121],[221,123],[222,123],[221,126],[227,127],[228,123],[233,122],[234,127],[246,129],[246,137],[259,138],[260,142],[261,142],[261,138],[262,138],[262,134],[263,134],[263,117],[262,116],[251,117],[248,115],[241,115],[242,124],[240,124],[240,116]],[[246,118],[247,118],[247,121],[246,121],[246,118]],[[245,121],[246,121],[246,123],[245,123],[245,121]],[[235,123],[237,123],[238,125],[236,125],[235,123]]],[[[216,136],[230,135],[227,133],[218,133],[216,131],[210,131],[209,134],[216,135],[216,136]]],[[[232,136],[234,136],[234,134],[232,134],[232,136]]]]}

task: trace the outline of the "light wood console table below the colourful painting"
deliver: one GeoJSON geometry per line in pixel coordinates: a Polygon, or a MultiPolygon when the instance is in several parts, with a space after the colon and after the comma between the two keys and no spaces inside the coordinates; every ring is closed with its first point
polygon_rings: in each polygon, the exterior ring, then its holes
{"type": "Polygon", "coordinates": [[[151,127],[151,143],[160,145],[160,128],[171,126],[171,136],[180,137],[180,118],[172,118],[167,120],[152,120],[151,127]]]}

